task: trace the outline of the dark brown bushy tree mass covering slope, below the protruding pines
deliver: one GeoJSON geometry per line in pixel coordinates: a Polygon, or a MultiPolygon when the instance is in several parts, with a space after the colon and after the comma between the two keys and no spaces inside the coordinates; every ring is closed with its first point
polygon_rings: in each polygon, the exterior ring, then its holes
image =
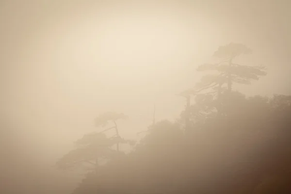
{"type": "Polygon", "coordinates": [[[112,153],[73,193],[291,193],[291,96],[227,99],[226,116],[207,113],[187,133],[179,121],[151,126],[134,151],[112,153]]]}

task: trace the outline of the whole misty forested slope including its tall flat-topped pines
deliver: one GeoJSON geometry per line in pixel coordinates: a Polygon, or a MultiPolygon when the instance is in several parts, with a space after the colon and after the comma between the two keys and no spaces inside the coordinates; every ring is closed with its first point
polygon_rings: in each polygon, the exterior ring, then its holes
{"type": "Polygon", "coordinates": [[[290,194],[291,96],[236,89],[267,76],[264,66],[236,62],[251,53],[239,43],[219,47],[197,67],[201,80],[179,94],[180,117],[153,120],[139,142],[119,135],[126,113],[97,115],[96,132],[56,162],[84,172],[72,194],[290,194]]]}

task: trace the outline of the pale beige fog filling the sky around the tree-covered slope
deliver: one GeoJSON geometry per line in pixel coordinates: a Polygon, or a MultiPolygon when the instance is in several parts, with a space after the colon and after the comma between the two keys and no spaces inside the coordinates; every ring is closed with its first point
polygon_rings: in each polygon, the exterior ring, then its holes
{"type": "Polygon", "coordinates": [[[99,130],[99,114],[128,115],[119,130],[129,139],[152,123],[154,105],[156,121],[175,121],[185,105],[177,94],[230,42],[253,50],[240,63],[268,73],[237,90],[291,95],[290,18],[289,0],[1,0],[4,179],[27,188],[15,193],[70,192],[80,177],[52,165],[99,130]]]}

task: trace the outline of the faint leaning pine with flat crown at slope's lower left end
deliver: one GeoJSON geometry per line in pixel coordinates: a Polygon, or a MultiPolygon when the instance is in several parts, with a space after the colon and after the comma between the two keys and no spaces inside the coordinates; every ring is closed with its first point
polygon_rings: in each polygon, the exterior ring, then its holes
{"type": "Polygon", "coordinates": [[[113,122],[114,126],[100,132],[85,134],[75,142],[76,148],[65,154],[56,163],[57,167],[63,170],[76,169],[77,167],[85,167],[92,170],[97,168],[100,160],[103,159],[106,162],[119,155],[119,144],[134,144],[134,141],[121,138],[117,129],[116,121],[126,118],[127,116],[123,113],[107,112],[99,115],[95,119],[97,127],[107,126],[109,122],[113,122]],[[116,134],[108,138],[104,132],[110,129],[115,129],[116,134]],[[115,144],[117,145],[117,150],[112,149],[115,144]]]}

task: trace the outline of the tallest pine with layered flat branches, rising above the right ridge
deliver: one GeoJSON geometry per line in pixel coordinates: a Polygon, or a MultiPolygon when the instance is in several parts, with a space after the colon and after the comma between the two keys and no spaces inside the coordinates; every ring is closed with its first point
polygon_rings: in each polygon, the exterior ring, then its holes
{"type": "MultiPolygon", "coordinates": [[[[215,64],[199,65],[197,71],[218,71],[219,74],[208,74],[196,83],[195,90],[204,91],[212,89],[217,94],[217,110],[219,115],[222,109],[221,95],[227,91],[230,94],[232,83],[251,84],[253,80],[259,80],[259,77],[265,76],[264,66],[247,66],[234,63],[235,58],[242,54],[251,54],[252,50],[245,45],[230,43],[219,47],[213,54],[213,57],[220,62],[215,64]],[[226,85],[227,87],[224,87],[226,85]]],[[[213,92],[210,92],[213,94],[213,92]]],[[[229,101],[229,100],[227,100],[229,101]]]]}

